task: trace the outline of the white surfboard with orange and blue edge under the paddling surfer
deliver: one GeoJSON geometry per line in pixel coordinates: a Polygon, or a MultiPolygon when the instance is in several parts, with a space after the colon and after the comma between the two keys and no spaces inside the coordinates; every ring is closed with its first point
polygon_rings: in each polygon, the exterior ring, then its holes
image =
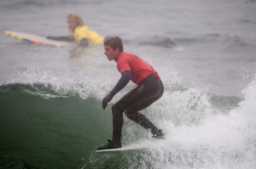
{"type": "Polygon", "coordinates": [[[22,33],[18,31],[3,31],[3,34],[9,37],[13,37],[15,39],[30,42],[33,44],[42,44],[42,45],[49,45],[49,46],[55,46],[55,47],[70,47],[75,44],[73,42],[54,41],[46,37],[40,37],[40,36],[22,33]]]}

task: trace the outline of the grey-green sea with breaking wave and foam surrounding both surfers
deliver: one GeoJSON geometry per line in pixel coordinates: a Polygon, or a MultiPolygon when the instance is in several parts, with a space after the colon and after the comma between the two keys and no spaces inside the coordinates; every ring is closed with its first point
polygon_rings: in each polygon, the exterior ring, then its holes
{"type": "Polygon", "coordinates": [[[98,155],[112,134],[102,99],[119,80],[102,46],[29,44],[0,34],[0,168],[256,168],[256,1],[2,0],[0,29],[67,35],[77,13],[125,52],[153,65],[165,86],[143,115],[166,138],[125,117],[122,144],[142,151],[98,155]],[[147,45],[171,39],[170,48],[147,45]]]}

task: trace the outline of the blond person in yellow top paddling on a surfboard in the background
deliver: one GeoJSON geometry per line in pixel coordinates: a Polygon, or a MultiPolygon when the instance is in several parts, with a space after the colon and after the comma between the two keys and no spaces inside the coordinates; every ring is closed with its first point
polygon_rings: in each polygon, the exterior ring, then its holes
{"type": "Polygon", "coordinates": [[[67,15],[68,30],[72,32],[72,36],[66,37],[47,37],[51,40],[77,42],[81,47],[87,47],[89,44],[102,44],[104,37],[101,37],[96,31],[91,31],[79,14],[67,15]]]}

